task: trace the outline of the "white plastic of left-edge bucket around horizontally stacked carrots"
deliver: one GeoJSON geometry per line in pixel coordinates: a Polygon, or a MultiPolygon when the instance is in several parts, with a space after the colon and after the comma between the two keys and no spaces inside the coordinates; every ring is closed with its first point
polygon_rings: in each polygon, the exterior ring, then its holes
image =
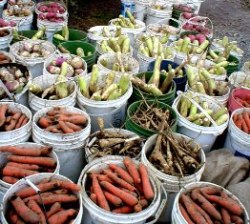
{"type": "MultiPolygon", "coordinates": [[[[37,144],[37,143],[33,143],[33,142],[23,142],[23,143],[19,143],[16,144],[16,146],[18,147],[25,147],[27,149],[34,149],[36,147],[41,147],[41,144],[37,144]]],[[[7,162],[7,156],[9,155],[9,153],[0,153],[0,168],[3,168],[3,166],[6,164],[7,162]]],[[[59,164],[59,160],[57,158],[57,155],[52,151],[49,155],[51,158],[54,158],[57,162],[56,168],[54,170],[54,174],[59,174],[59,169],[60,169],[60,164],[59,164]]],[[[7,192],[7,190],[12,186],[12,184],[6,183],[3,180],[0,179],[0,194],[5,194],[7,192]]],[[[0,199],[1,202],[1,199],[0,199]]]]}

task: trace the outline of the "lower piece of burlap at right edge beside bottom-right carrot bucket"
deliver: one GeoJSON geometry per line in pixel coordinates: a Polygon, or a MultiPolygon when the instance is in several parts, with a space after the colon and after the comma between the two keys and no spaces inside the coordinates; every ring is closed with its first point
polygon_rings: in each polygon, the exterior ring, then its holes
{"type": "Polygon", "coordinates": [[[240,199],[250,215],[250,178],[244,182],[233,184],[227,187],[237,198],[240,199]]]}

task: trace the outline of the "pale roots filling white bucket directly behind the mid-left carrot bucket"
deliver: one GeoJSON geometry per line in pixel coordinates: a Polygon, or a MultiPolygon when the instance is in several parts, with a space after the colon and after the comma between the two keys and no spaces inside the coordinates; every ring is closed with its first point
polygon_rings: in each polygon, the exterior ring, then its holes
{"type": "Polygon", "coordinates": [[[53,85],[42,88],[36,83],[29,84],[29,91],[42,99],[59,100],[71,95],[75,90],[72,83],[67,82],[63,75],[59,75],[53,85]]]}

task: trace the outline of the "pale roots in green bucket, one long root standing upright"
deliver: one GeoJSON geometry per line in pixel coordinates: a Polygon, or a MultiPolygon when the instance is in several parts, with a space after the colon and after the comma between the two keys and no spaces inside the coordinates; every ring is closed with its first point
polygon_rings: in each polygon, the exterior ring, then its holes
{"type": "Polygon", "coordinates": [[[171,88],[173,78],[175,77],[175,74],[178,74],[179,69],[171,69],[167,74],[163,75],[164,78],[162,79],[160,73],[161,61],[161,57],[156,59],[154,71],[149,80],[146,80],[145,76],[142,76],[141,78],[137,76],[131,77],[133,85],[139,90],[155,96],[161,96],[167,93],[171,88]]]}

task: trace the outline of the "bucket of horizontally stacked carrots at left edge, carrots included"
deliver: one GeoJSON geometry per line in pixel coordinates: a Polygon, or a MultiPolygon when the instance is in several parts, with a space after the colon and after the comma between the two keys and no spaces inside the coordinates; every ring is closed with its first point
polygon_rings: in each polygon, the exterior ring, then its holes
{"type": "Polygon", "coordinates": [[[59,173],[60,165],[52,147],[33,142],[0,146],[0,191],[5,193],[24,176],[59,173]]]}

